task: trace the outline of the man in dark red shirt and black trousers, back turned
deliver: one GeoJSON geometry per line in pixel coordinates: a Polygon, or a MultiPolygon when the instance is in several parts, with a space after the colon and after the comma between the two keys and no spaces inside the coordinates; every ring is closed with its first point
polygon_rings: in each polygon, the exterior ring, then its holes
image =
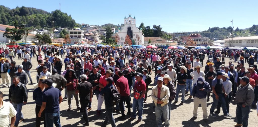
{"type": "MultiPolygon", "coordinates": [[[[119,71],[118,72],[118,77],[119,79],[117,79],[116,81],[116,86],[118,89],[118,92],[120,93],[120,102],[119,102],[119,108],[120,109],[124,109],[124,101],[127,105],[128,111],[127,114],[131,114],[131,98],[130,98],[130,89],[129,89],[129,84],[128,84],[128,80],[127,78],[124,77],[124,73],[123,71],[119,71]]],[[[118,117],[118,119],[120,120],[124,120],[125,119],[125,112],[121,111],[122,116],[118,117]]]]}

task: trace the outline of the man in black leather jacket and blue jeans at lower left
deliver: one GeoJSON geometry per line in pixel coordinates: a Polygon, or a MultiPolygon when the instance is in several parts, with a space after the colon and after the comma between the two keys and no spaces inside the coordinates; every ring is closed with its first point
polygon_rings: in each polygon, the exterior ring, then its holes
{"type": "Polygon", "coordinates": [[[19,122],[24,120],[21,112],[22,105],[27,104],[28,100],[27,88],[20,82],[20,78],[18,76],[13,77],[13,84],[10,86],[8,97],[10,103],[13,104],[13,107],[17,111],[14,126],[18,126],[19,122]]]}

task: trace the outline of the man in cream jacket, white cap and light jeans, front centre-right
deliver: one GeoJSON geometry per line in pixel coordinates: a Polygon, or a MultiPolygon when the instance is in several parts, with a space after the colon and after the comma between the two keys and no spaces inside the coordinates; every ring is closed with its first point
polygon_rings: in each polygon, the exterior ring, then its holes
{"type": "Polygon", "coordinates": [[[163,85],[163,78],[158,78],[158,85],[154,86],[151,91],[151,98],[155,104],[155,114],[157,126],[162,126],[161,114],[163,114],[165,126],[169,127],[168,98],[170,97],[169,88],[163,85]]]}

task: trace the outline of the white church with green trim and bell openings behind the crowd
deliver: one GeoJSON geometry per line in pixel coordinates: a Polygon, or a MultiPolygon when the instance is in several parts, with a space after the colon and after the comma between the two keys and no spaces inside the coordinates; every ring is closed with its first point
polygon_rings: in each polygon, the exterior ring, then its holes
{"type": "Polygon", "coordinates": [[[132,45],[143,45],[144,36],[142,34],[142,30],[139,30],[136,27],[136,19],[135,17],[131,17],[131,13],[129,14],[129,17],[124,18],[124,25],[122,25],[118,30],[118,35],[120,37],[120,41],[117,45],[125,45],[124,42],[126,35],[128,35],[132,40],[132,45]]]}

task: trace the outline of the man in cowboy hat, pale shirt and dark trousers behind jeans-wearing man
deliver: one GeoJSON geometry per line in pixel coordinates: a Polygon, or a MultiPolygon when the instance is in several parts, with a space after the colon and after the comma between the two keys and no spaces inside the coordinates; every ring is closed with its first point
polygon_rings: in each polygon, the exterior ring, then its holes
{"type": "MultiPolygon", "coordinates": [[[[227,108],[227,113],[229,114],[229,102],[230,102],[230,98],[229,98],[229,94],[231,92],[231,87],[232,87],[232,83],[231,81],[229,80],[229,76],[228,76],[228,73],[226,72],[222,72],[222,80],[223,80],[223,93],[225,96],[225,102],[226,102],[226,108],[227,108]]],[[[218,105],[217,105],[217,111],[215,111],[215,113],[220,113],[220,107],[221,107],[221,103],[220,101],[218,102],[218,105]]]]}

